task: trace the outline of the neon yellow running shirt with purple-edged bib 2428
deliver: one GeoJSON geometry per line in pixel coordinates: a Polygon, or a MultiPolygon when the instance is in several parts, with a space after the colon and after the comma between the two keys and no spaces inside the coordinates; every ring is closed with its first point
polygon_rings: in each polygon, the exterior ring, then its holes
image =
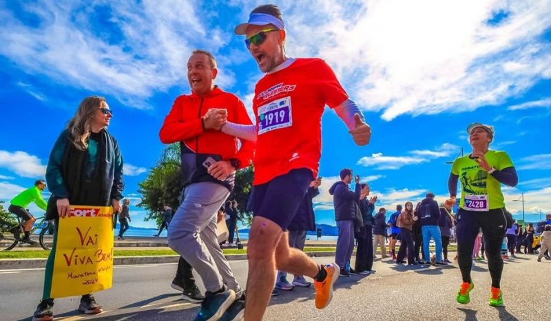
{"type": "MultiPolygon", "coordinates": [[[[486,162],[496,170],[513,166],[509,155],[503,151],[488,151],[484,157],[486,162]]],[[[480,168],[474,159],[469,158],[469,155],[455,159],[452,174],[459,176],[461,181],[460,208],[484,212],[505,207],[501,183],[480,168]]]]}

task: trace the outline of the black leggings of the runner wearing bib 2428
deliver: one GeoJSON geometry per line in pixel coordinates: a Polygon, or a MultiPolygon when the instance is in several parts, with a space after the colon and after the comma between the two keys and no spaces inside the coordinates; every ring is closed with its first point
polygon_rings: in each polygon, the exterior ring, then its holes
{"type": "Polygon", "coordinates": [[[482,229],[492,287],[499,288],[501,272],[503,272],[501,243],[503,243],[507,229],[507,219],[503,210],[503,208],[497,208],[488,212],[473,212],[459,208],[455,217],[455,231],[457,234],[457,261],[463,282],[472,282],[470,278],[472,248],[475,245],[479,229],[482,229]]]}

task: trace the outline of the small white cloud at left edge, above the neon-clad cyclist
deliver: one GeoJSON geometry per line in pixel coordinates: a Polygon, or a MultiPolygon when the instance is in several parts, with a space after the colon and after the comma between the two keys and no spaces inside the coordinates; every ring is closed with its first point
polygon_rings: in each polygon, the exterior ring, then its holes
{"type": "Polygon", "coordinates": [[[41,164],[39,157],[23,151],[0,151],[0,167],[7,168],[21,177],[39,179],[46,173],[46,166],[41,164]]]}

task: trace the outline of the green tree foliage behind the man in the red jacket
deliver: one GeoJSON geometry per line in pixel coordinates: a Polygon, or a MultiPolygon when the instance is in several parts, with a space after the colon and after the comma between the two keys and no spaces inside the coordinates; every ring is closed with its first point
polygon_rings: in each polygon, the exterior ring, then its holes
{"type": "MultiPolygon", "coordinates": [[[[236,187],[228,198],[238,202],[243,223],[247,226],[251,225],[252,220],[251,213],[246,210],[252,182],[252,166],[238,170],[236,187]]],[[[138,184],[138,187],[138,192],[142,195],[142,201],[138,206],[148,210],[144,220],[154,220],[157,225],[160,225],[165,204],[174,210],[180,206],[180,195],[183,189],[180,144],[171,144],[165,148],[157,164],[149,170],[147,177],[138,184]]]]}

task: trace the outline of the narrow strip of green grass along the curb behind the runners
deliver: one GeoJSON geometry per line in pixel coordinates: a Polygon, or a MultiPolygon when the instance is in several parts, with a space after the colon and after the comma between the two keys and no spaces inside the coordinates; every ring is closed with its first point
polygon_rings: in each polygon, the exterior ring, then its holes
{"type": "MultiPolygon", "coordinates": [[[[223,249],[227,255],[247,254],[247,249],[223,249]]],[[[335,252],[335,247],[304,247],[304,252],[335,252]]],[[[6,258],[48,258],[50,251],[0,251],[0,259],[6,258]]],[[[114,256],[167,256],[178,255],[173,250],[115,250],[114,256]]]]}

